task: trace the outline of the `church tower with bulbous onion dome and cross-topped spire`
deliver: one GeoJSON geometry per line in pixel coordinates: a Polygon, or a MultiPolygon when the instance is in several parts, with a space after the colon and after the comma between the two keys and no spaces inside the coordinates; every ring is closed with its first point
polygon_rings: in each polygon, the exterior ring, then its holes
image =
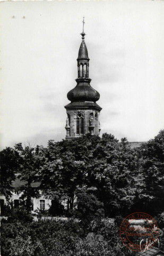
{"type": "Polygon", "coordinates": [[[97,105],[100,94],[94,90],[89,78],[89,57],[87,46],[84,42],[84,19],[82,42],[77,58],[77,75],[75,80],[77,85],[67,93],[70,104],[66,105],[66,139],[81,137],[84,134],[91,133],[92,135],[100,134],[99,116],[101,107],[97,105]]]}

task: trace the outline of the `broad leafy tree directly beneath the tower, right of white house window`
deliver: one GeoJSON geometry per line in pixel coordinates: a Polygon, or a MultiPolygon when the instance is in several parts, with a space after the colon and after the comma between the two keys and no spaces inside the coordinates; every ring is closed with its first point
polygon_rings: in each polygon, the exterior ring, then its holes
{"type": "Polygon", "coordinates": [[[88,182],[88,164],[99,140],[99,137],[87,135],[71,141],[48,143],[47,161],[40,170],[41,188],[51,198],[67,199],[68,211],[73,209],[75,190],[88,182]]]}

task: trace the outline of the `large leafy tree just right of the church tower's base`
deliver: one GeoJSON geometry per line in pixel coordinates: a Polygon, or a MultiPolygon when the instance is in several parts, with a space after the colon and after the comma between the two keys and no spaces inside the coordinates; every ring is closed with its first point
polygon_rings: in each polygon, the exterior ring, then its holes
{"type": "Polygon", "coordinates": [[[125,138],[119,143],[114,135],[103,134],[93,151],[88,175],[91,186],[98,189],[106,216],[128,213],[137,195],[142,196],[140,161],[125,138]]]}

